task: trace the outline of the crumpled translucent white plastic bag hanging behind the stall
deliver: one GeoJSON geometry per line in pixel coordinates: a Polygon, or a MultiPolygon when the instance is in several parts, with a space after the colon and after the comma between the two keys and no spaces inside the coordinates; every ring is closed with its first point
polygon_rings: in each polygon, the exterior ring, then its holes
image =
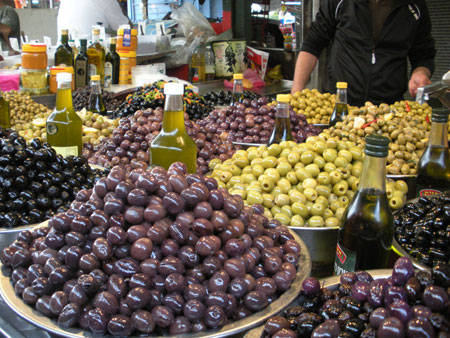
{"type": "Polygon", "coordinates": [[[209,38],[216,35],[210,23],[190,2],[173,11],[172,20],[182,26],[184,36],[188,44],[195,38],[200,38],[200,43],[205,44],[209,38]]]}

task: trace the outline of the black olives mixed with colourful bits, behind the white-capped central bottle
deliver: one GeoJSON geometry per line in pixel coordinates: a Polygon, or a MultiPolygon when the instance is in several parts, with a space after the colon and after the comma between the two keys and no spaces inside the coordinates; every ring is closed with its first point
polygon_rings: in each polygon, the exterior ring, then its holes
{"type": "MultiPolygon", "coordinates": [[[[129,95],[127,99],[109,113],[110,118],[120,118],[133,115],[138,110],[148,108],[164,108],[164,82],[155,82],[151,85],[139,87],[136,92],[129,95]]],[[[214,107],[208,103],[203,96],[195,94],[191,89],[186,89],[184,96],[185,112],[192,120],[202,119],[208,116],[214,107]]]]}

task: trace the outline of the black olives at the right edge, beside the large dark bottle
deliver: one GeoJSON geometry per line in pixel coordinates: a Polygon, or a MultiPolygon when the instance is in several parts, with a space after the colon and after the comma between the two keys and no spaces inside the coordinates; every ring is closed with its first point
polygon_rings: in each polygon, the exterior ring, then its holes
{"type": "Polygon", "coordinates": [[[433,267],[450,261],[450,192],[405,204],[394,226],[397,242],[419,262],[433,267]]]}

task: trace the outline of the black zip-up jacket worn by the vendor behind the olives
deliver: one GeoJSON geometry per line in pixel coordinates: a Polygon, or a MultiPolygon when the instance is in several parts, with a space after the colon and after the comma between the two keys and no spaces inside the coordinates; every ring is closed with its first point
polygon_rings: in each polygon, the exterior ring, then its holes
{"type": "Polygon", "coordinates": [[[412,69],[434,70],[434,40],[424,0],[393,0],[379,40],[372,37],[370,0],[322,0],[302,51],[319,57],[331,41],[324,91],[348,83],[348,102],[364,105],[401,100],[412,69]]]}

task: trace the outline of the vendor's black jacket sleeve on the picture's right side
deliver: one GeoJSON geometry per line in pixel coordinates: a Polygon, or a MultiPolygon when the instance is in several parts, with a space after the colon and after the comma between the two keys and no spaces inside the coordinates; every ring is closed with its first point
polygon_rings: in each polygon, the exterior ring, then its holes
{"type": "Polygon", "coordinates": [[[408,57],[411,62],[411,70],[417,67],[426,67],[433,74],[436,49],[431,36],[431,19],[425,2],[420,7],[420,11],[417,34],[408,57]]]}

